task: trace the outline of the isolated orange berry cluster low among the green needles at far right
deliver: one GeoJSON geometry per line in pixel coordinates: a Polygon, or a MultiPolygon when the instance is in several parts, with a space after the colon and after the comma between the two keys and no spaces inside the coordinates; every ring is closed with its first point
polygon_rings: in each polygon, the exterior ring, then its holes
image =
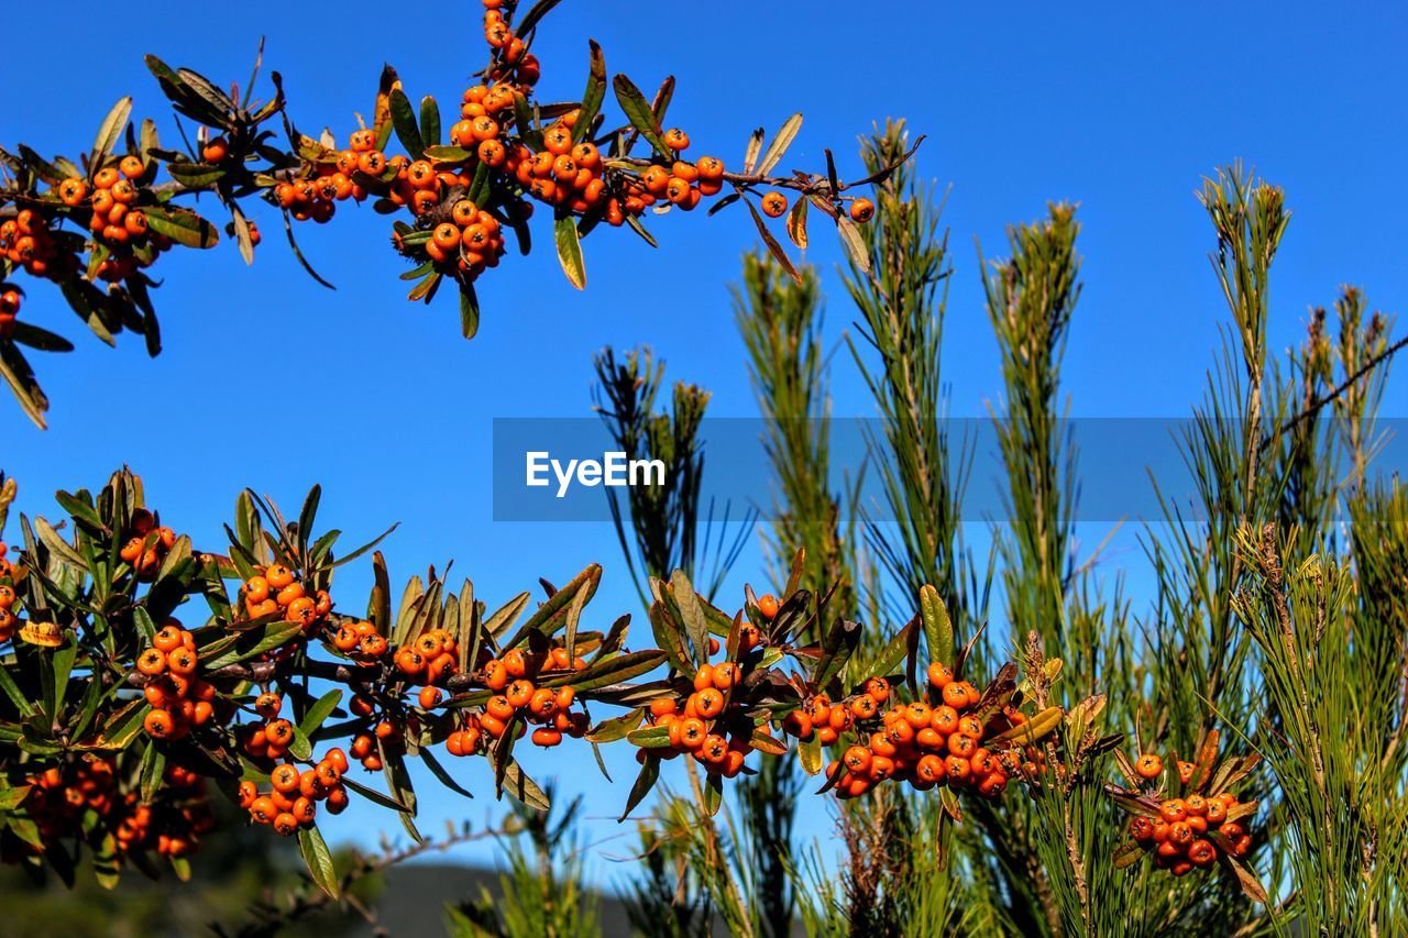
{"type": "Polygon", "coordinates": [[[1252,852],[1252,835],[1239,821],[1229,820],[1242,815],[1238,806],[1231,792],[1170,799],[1159,806],[1157,815],[1131,818],[1129,834],[1146,851],[1153,851],[1159,869],[1186,876],[1194,868],[1212,866],[1219,852],[1238,859],[1252,852]]]}

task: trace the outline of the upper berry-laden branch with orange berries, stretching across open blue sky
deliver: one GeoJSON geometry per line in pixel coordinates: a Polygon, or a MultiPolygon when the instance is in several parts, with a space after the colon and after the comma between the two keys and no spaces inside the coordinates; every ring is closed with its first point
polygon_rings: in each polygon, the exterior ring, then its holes
{"type": "Polygon", "coordinates": [[[445,282],[453,283],[466,338],[479,328],[474,282],[498,266],[508,232],[528,254],[535,206],[552,211],[558,258],[579,289],[586,286],[582,238],[601,223],[628,225],[655,245],[643,224],[648,208],[691,211],[725,187],[729,193],[710,214],[746,204],[763,241],[793,276],[796,269],[763,218],[787,213],[784,189],[798,193],[786,225],[794,244],[807,245],[811,204],[836,224],[857,262],[867,263],[855,224],[867,221],[874,206],[849,190],[880,182],[893,168],[842,183],[828,151],[824,175],[772,175],[801,128],[801,114],[781,127],[766,152],[765,135],[756,131],[742,172],[728,172],[715,156],[690,161],[689,135],[665,128],[674,79],[646,101],[624,75],[608,80],[596,42],[582,100],[541,101],[534,93],[541,66],[532,42],[555,6],[556,0],[539,0],[515,23],[513,0],[484,0],[489,62],[479,73],[482,83],[465,90],[445,134],[436,100],[425,96],[413,107],[390,66],[382,73],[370,127],[352,131],[345,142],[329,131],[317,138],[303,134],[287,115],[277,72],[273,97],[252,99],[260,49],[244,96],[238,86],[227,93],[191,69],[146,56],[177,121],[184,117],[199,125],[194,142],[182,128],[183,149],[163,145],[151,120],[137,127],[131,97],[113,107],[92,151],[77,161],[45,159],[23,144],[14,154],[0,149],[0,375],[30,418],[44,427],[48,400],[20,346],[70,351],[72,345],[17,318],[24,290],[10,282],[11,275],[24,270],[51,280],[100,339],[113,344],[118,332],[134,331],[156,355],[151,268],[175,248],[204,249],[220,241],[215,224],[177,204],[200,193],[214,194],[228,211],[224,230],[249,263],[260,231],[248,203],[277,208],[298,261],[325,286],[298,249],[293,223],[327,223],[348,201],[370,200],[380,214],[406,213],[408,220],[393,223],[391,244],[413,265],[401,275],[415,282],[408,297],[428,303],[445,282]],[[603,113],[608,85],[624,124],[608,123],[603,113]],[[391,152],[393,138],[404,152],[391,152]],[[632,156],[642,141],[649,155],[632,156]]]}

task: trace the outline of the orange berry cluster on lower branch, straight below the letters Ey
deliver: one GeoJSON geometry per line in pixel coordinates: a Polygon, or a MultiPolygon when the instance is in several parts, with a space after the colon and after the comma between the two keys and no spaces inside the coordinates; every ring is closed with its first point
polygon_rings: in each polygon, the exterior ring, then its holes
{"type": "MultiPolygon", "coordinates": [[[[543,686],[555,677],[567,677],[586,669],[584,658],[569,656],[567,649],[560,645],[538,654],[511,648],[503,658],[490,658],[482,677],[484,686],[496,693],[484,703],[484,711],[476,715],[477,725],[466,727],[466,731],[477,728],[498,739],[511,725],[525,728],[527,724],[535,724],[538,728],[532,731],[532,741],[543,748],[558,745],[563,735],[586,735],[586,711],[572,710],[576,692],[566,686],[543,686]],[[518,717],[522,723],[515,721],[518,717]]],[[[465,744],[476,741],[476,737],[462,737],[462,755],[472,753],[473,745],[465,744]]]]}

